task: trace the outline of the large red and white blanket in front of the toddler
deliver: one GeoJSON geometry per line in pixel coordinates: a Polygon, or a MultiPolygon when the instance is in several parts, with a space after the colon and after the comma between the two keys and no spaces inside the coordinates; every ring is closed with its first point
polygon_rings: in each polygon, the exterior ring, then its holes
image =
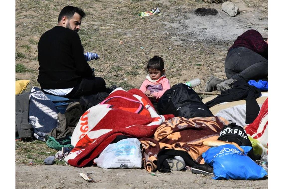
{"type": "Polygon", "coordinates": [[[147,96],[138,89],[115,89],[103,102],[88,109],[71,137],[75,147],[64,161],[75,167],[93,160],[117,135],[151,137],[158,126],[174,115],[158,115],[147,96]]]}

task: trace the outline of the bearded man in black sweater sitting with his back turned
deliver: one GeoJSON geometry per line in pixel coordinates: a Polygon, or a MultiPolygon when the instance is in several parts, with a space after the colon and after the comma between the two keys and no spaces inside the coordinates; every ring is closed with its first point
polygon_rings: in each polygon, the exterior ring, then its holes
{"type": "Polygon", "coordinates": [[[58,25],[41,35],[37,45],[37,82],[44,93],[76,99],[108,92],[105,80],[94,77],[87,63],[89,57],[83,54],[78,31],[84,17],[82,9],[66,6],[58,16],[58,25]]]}

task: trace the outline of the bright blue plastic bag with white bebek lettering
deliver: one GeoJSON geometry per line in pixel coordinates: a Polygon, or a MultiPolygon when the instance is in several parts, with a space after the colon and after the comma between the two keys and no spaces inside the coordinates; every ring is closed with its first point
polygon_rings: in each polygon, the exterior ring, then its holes
{"type": "Polygon", "coordinates": [[[268,175],[261,166],[246,155],[252,147],[240,147],[245,154],[230,144],[211,147],[202,154],[205,162],[213,167],[213,179],[256,180],[268,175]]]}

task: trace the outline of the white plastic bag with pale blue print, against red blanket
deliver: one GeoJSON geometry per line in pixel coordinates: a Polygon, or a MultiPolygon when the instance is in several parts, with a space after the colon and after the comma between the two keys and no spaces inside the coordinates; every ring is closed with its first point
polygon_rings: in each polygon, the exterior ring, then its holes
{"type": "Polygon", "coordinates": [[[136,138],[122,139],[109,144],[94,162],[101,168],[138,168],[142,167],[140,141],[136,138]]]}

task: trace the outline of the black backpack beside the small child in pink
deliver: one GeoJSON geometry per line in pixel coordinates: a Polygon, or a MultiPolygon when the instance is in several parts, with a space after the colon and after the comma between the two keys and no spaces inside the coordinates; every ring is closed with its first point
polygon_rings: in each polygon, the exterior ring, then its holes
{"type": "Polygon", "coordinates": [[[157,110],[161,115],[174,114],[185,118],[213,116],[199,95],[183,83],[172,86],[162,95],[157,110]]]}

